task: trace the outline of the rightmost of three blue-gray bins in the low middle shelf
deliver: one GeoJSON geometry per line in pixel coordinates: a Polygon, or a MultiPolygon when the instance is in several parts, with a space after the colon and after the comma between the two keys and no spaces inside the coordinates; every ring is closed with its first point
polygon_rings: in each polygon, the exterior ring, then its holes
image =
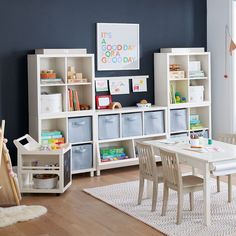
{"type": "Polygon", "coordinates": [[[144,113],[144,134],[160,134],[165,132],[164,111],[144,113]]]}

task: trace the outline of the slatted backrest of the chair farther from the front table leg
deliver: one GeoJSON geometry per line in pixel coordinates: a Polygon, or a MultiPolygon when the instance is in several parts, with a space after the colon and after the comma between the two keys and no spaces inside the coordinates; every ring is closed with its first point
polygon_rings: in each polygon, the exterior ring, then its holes
{"type": "Polygon", "coordinates": [[[156,161],[152,146],[136,142],[136,148],[139,158],[140,175],[148,179],[156,178],[156,161]]]}

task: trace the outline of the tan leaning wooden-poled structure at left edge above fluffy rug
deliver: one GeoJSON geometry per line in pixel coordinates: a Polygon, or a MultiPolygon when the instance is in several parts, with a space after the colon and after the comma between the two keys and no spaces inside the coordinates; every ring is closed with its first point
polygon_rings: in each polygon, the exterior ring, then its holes
{"type": "Polygon", "coordinates": [[[20,205],[21,194],[17,175],[12,170],[11,158],[4,140],[5,121],[0,130],[0,205],[20,205]]]}

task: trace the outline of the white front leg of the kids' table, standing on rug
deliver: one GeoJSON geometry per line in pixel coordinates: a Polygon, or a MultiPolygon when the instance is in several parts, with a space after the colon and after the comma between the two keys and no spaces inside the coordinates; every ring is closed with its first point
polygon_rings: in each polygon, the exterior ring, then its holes
{"type": "Polygon", "coordinates": [[[211,199],[210,199],[210,171],[209,164],[206,163],[204,170],[204,223],[205,225],[211,224],[211,199]]]}

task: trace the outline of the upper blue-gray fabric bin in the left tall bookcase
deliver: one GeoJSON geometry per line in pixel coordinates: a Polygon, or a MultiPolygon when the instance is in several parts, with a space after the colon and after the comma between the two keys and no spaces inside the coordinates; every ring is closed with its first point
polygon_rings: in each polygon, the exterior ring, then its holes
{"type": "Polygon", "coordinates": [[[68,136],[70,143],[92,140],[92,117],[69,118],[68,136]]]}

